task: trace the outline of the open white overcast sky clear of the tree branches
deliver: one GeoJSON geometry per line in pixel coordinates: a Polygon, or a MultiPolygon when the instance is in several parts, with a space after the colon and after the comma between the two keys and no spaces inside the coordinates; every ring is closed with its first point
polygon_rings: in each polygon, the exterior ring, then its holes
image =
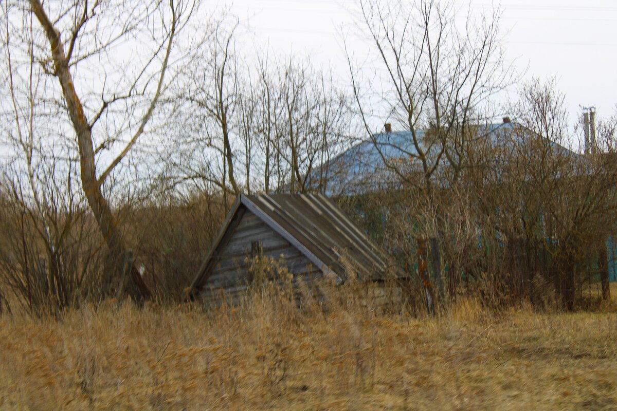
{"type": "MultiPolygon", "coordinates": [[[[255,39],[275,51],[310,53],[313,62],[347,70],[341,28],[353,25],[356,0],[220,0],[249,21],[255,39]]],[[[508,58],[526,77],[554,76],[566,94],[571,118],[594,105],[599,116],[617,104],[617,1],[615,0],[455,0],[466,12],[500,5],[508,58]]]]}

